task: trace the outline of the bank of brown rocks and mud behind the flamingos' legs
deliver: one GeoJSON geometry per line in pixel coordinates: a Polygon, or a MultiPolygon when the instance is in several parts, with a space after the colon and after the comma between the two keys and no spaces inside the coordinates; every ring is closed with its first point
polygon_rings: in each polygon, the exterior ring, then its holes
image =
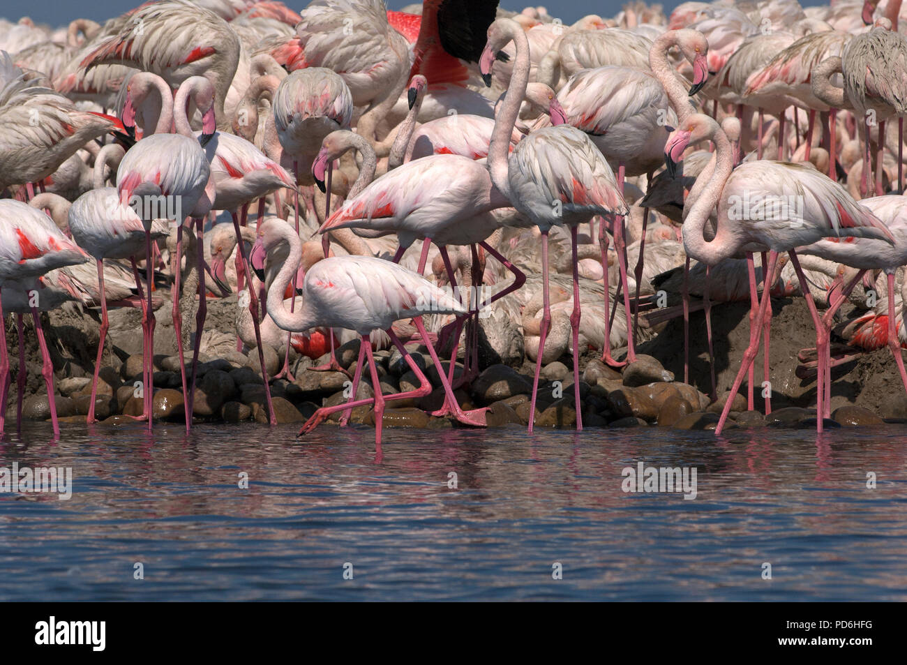
{"type": "MultiPolygon", "coordinates": [[[[166,302],[166,298],[164,298],[166,302]]],[[[235,345],[233,317],[236,297],[209,301],[208,328],[216,329],[220,343],[217,357],[205,353],[203,344],[197,367],[197,386],[194,396],[194,416],[198,422],[258,422],[268,423],[265,391],[258,366],[258,350],[245,353],[223,350],[235,345]],[[225,341],[226,340],[226,341],[225,341]]],[[[760,411],[746,411],[746,385],[736,396],[731,420],[737,426],[803,426],[815,425],[815,385],[812,379],[796,377],[796,352],[812,346],[813,331],[802,298],[778,298],[774,301],[771,362],[772,406],[769,416],[760,411]]],[[[157,316],[155,348],[162,353],[154,358],[155,420],[182,422],[184,398],[181,391],[179,359],[175,352],[172,322],[168,320],[169,305],[162,306],[157,316]]],[[[683,378],[682,320],[675,319],[649,342],[639,345],[639,359],[622,371],[607,367],[599,360],[599,352],[587,349],[580,361],[582,422],[584,427],[632,427],[645,425],[669,426],[678,429],[713,429],[717,416],[727,399],[739,358],[748,339],[746,305],[729,304],[713,310],[716,333],[716,367],[718,400],[711,402],[709,367],[705,347],[705,322],[701,313],[690,319],[690,379],[683,378]]],[[[136,382],[141,379],[141,335],[138,334],[139,312],[122,309],[111,313],[108,350],[98,386],[96,417],[103,423],[133,422],[124,416],[141,415],[141,398],[136,382]],[[138,347],[136,346],[138,345],[138,347]]],[[[44,314],[48,343],[54,360],[57,413],[61,423],[84,423],[91,395],[93,359],[97,350],[96,315],[90,310],[64,308],[44,314]]],[[[27,318],[26,318],[27,319],[27,318]]],[[[518,334],[518,331],[517,333],[518,334]]],[[[480,336],[482,337],[482,336],[480,336]]],[[[15,318],[6,320],[6,343],[10,352],[12,371],[18,367],[18,346],[15,318]]],[[[359,341],[339,347],[337,359],[352,371],[355,367],[359,341]]],[[[437,372],[426,349],[416,343],[407,348],[416,362],[426,369],[435,386],[434,392],[422,399],[390,402],[384,416],[385,426],[437,428],[455,426],[448,418],[430,416],[440,408],[443,395],[437,372]]],[[[41,377],[41,362],[37,354],[34,329],[25,333],[26,369],[24,419],[49,418],[49,408],[41,377]]],[[[209,348],[210,350],[210,348],[209,348]]],[[[622,357],[618,350],[615,357],[622,357]]],[[[480,359],[491,358],[489,348],[480,349],[480,359]]],[[[462,350],[461,350],[462,360],[462,350]]],[[[282,365],[282,357],[270,347],[265,349],[268,376],[282,365]]],[[[296,378],[271,381],[271,395],[278,424],[302,423],[319,406],[334,406],[346,400],[347,377],[340,372],[315,372],[327,357],[312,360],[297,357],[291,351],[291,370],[296,378]]],[[[381,389],[386,394],[414,389],[418,382],[395,349],[375,352],[381,377],[381,389]]],[[[442,361],[446,372],[446,361],[442,361]]],[[[511,367],[502,363],[484,363],[479,377],[471,386],[456,391],[463,408],[488,406],[489,426],[524,426],[529,420],[529,397],[532,391],[534,364],[523,358],[511,367]]],[[[565,355],[543,367],[536,405],[536,427],[573,428],[576,412],[573,401],[571,358],[565,355]]],[[[460,368],[454,370],[459,376],[460,368]]],[[[905,396],[896,367],[887,348],[864,353],[852,363],[835,367],[833,375],[832,421],[836,425],[882,425],[907,422],[905,396]]],[[[762,355],[756,359],[756,409],[762,409],[762,355]]],[[[360,383],[358,398],[372,396],[372,386],[366,375],[360,383]]],[[[10,390],[7,417],[15,418],[15,378],[10,390]]],[[[337,415],[329,419],[336,423],[337,415]]],[[[374,426],[370,407],[354,409],[350,422],[374,426]]]]}

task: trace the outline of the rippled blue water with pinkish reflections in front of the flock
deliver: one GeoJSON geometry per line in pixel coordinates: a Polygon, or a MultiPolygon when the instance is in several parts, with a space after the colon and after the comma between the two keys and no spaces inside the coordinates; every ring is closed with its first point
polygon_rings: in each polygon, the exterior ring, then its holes
{"type": "Polygon", "coordinates": [[[380,460],[296,431],[28,425],[0,466],[71,466],[73,498],[0,494],[0,600],[907,598],[901,425],[389,429],[380,460]],[[695,465],[697,498],[625,494],[639,461],[695,465]]]}

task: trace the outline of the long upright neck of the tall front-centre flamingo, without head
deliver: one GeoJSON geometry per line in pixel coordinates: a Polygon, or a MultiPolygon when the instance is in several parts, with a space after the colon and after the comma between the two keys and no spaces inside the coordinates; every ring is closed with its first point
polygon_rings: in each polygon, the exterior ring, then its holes
{"type": "Polygon", "coordinates": [[[513,64],[510,84],[507,94],[501,103],[501,109],[494,119],[492,141],[488,146],[488,171],[492,176],[494,186],[498,191],[512,200],[508,158],[510,157],[510,140],[513,127],[516,125],[517,115],[520,113],[520,104],[526,94],[526,85],[529,83],[529,40],[518,24],[505,23],[504,30],[507,36],[512,37],[516,46],[516,62],[513,64]],[[515,26],[515,28],[514,28],[515,26]]]}

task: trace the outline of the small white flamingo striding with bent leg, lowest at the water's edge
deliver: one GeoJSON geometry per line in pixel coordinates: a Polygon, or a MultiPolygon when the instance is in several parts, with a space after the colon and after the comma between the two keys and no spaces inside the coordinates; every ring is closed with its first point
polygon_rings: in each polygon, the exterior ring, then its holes
{"type": "MultiPolygon", "coordinates": [[[[385,401],[426,396],[432,390],[428,379],[406,352],[391,325],[400,318],[412,317],[414,325],[434,361],[434,366],[440,369],[441,363],[428,338],[421,315],[429,309],[436,313],[463,314],[465,308],[444,291],[434,287],[421,275],[390,261],[374,257],[333,257],[319,261],[308,270],[302,285],[303,305],[296,313],[290,313],[284,308],[283,293],[292,276],[296,274],[296,267],[302,256],[302,243],[287,224],[265,222],[263,226],[264,229],[256,242],[256,248],[252,249],[253,254],[257,250],[267,254],[268,251],[284,243],[287,243],[289,247],[288,260],[281,266],[277,278],[268,292],[268,312],[274,318],[274,322],[286,330],[307,330],[315,327],[355,330],[362,338],[359,354],[366,355],[371,371],[372,386],[375,386],[375,397],[339,406],[319,408],[302,426],[299,434],[307,434],[336,411],[374,404],[375,445],[380,446],[385,401]],[[374,330],[386,331],[395,347],[405,357],[410,369],[419,378],[420,387],[418,389],[388,396],[386,399],[381,395],[369,337],[374,330]]],[[[441,377],[447,399],[456,405],[447,377],[444,376],[444,372],[439,371],[438,374],[441,377]]],[[[358,383],[358,378],[358,376],[354,377],[354,384],[358,383]]],[[[483,409],[478,411],[483,412],[483,409]]],[[[469,420],[469,415],[470,413],[463,414],[463,412],[458,414],[458,416],[467,416],[463,418],[465,420],[469,420]]],[[[472,422],[475,425],[482,424],[478,419],[473,419],[472,422]]]]}

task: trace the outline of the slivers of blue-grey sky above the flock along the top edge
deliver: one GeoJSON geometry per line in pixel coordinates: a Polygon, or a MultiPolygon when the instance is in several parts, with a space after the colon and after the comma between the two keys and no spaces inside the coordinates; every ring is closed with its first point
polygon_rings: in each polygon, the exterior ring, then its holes
{"type": "MultiPolygon", "coordinates": [[[[543,2],[541,0],[509,0],[502,3],[502,6],[512,11],[518,11],[522,7],[530,5],[532,1],[536,5],[548,7],[551,15],[558,16],[565,23],[576,21],[581,16],[587,14],[600,14],[603,16],[612,16],[620,11],[624,0],[552,0],[543,2]]],[[[680,4],[681,0],[666,0],[661,4],[665,7],[666,12],[680,4]]],[[[111,18],[120,15],[122,12],[132,9],[132,7],[141,5],[142,0],[90,0],[87,3],[74,3],[71,0],[62,2],[61,0],[3,0],[0,5],[0,16],[8,20],[17,20],[20,16],[31,16],[34,21],[48,23],[52,25],[68,24],[73,18],[85,17],[95,21],[111,18]]],[[[399,9],[404,5],[410,4],[407,0],[385,0],[391,9],[399,9]]],[[[801,4],[821,5],[820,0],[801,0],[801,4]]],[[[307,5],[306,2],[287,2],[287,5],[297,11],[307,5]]]]}

